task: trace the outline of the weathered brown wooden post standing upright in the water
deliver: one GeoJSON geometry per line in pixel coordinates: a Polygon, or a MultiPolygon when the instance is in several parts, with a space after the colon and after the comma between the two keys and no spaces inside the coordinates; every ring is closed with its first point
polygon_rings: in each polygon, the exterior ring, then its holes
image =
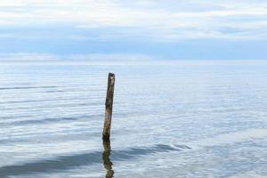
{"type": "Polygon", "coordinates": [[[103,135],[102,135],[103,142],[109,142],[114,85],[115,85],[115,75],[109,73],[108,89],[107,89],[107,97],[106,97],[105,123],[103,127],[103,135]]]}

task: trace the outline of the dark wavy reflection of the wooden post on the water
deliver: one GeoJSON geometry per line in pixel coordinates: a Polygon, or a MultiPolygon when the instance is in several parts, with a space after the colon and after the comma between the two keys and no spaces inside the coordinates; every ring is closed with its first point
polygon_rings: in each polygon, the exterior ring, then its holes
{"type": "Polygon", "coordinates": [[[109,158],[111,154],[110,142],[103,142],[104,151],[102,153],[103,165],[107,170],[106,178],[111,178],[114,176],[114,171],[112,170],[112,162],[109,158]]]}

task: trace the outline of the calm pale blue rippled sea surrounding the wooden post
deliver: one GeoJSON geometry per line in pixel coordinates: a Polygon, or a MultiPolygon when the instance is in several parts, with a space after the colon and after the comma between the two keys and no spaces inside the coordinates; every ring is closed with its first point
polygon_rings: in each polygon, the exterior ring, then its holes
{"type": "Polygon", "coordinates": [[[267,61],[1,62],[0,110],[1,178],[267,177],[267,61]]]}

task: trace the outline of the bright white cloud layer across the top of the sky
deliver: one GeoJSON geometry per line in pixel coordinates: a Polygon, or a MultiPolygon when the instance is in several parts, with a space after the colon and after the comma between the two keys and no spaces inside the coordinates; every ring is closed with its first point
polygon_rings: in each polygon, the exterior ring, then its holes
{"type": "MultiPolygon", "coordinates": [[[[242,0],[1,0],[0,26],[69,24],[77,28],[129,28],[128,36],[181,38],[262,38],[267,36],[267,2],[242,0]],[[235,18],[236,17],[236,18],[235,18]],[[254,20],[246,20],[246,18],[254,20]],[[131,28],[134,28],[131,30],[131,28]],[[223,28],[223,30],[222,30],[223,28]],[[238,28],[228,33],[226,28],[238,28]],[[131,33],[131,31],[133,33],[131,33]]],[[[80,36],[79,36],[80,37],[80,36]]],[[[86,36],[84,36],[86,38],[86,36]]],[[[88,36],[87,36],[88,37],[88,36]]]]}

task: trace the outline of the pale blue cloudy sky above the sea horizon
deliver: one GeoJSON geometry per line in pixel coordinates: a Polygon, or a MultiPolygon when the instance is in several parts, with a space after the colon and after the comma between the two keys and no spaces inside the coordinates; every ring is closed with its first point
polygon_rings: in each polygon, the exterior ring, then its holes
{"type": "Polygon", "coordinates": [[[266,60],[266,49],[266,0],[0,0],[0,58],[266,60]]]}

